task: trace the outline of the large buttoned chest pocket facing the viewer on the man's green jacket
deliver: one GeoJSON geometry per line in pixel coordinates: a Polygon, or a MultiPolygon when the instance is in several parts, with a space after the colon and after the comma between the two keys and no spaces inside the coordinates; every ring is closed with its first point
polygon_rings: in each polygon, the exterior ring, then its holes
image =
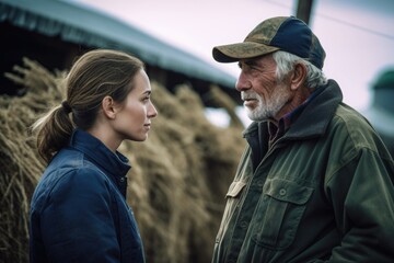
{"type": "Polygon", "coordinates": [[[253,222],[258,226],[252,237],[256,244],[275,250],[288,248],[312,193],[312,187],[292,181],[267,179],[253,222]]]}

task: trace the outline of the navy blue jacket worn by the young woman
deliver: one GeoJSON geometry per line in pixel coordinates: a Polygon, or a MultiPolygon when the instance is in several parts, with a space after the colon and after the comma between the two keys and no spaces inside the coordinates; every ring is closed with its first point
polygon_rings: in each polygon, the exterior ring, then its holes
{"type": "Polygon", "coordinates": [[[34,192],[31,262],[144,262],[125,198],[129,169],[126,157],[76,129],[34,192]]]}

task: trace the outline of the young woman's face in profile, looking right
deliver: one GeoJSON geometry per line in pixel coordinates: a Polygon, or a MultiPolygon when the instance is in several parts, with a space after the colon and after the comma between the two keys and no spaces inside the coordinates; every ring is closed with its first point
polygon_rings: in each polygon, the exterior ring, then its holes
{"type": "Polygon", "coordinates": [[[140,70],[134,79],[135,88],[119,106],[113,128],[120,140],[143,141],[148,138],[151,119],[158,112],[150,100],[151,85],[144,70],[140,70]]]}

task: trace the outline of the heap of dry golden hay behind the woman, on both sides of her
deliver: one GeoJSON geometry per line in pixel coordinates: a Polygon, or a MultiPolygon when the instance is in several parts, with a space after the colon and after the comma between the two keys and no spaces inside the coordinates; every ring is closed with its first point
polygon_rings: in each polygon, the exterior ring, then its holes
{"type": "MultiPolygon", "coordinates": [[[[14,70],[8,77],[26,87],[27,93],[0,100],[0,196],[4,196],[0,232],[5,237],[0,253],[5,262],[26,262],[28,204],[44,170],[27,127],[48,106],[60,103],[63,91],[57,78],[63,73],[49,72],[28,59],[14,70]]],[[[157,82],[152,89],[159,116],[148,140],[125,141],[119,149],[132,167],[127,202],[148,262],[209,262],[223,197],[244,148],[243,127],[234,117],[231,99],[218,90],[211,99],[232,116],[229,128],[205,117],[201,100],[190,87],[179,85],[175,94],[157,82]]]]}

